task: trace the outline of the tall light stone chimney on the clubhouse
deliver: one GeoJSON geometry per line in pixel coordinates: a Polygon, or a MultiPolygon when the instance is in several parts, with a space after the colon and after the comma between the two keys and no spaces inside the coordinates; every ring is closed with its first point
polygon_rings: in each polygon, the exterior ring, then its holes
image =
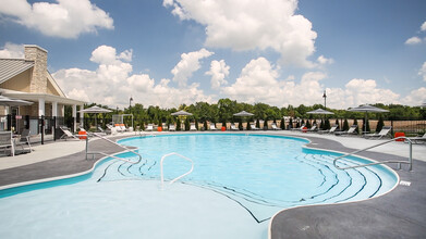
{"type": "Polygon", "coordinates": [[[29,92],[47,93],[47,50],[36,45],[25,45],[25,60],[34,61],[29,92]]]}

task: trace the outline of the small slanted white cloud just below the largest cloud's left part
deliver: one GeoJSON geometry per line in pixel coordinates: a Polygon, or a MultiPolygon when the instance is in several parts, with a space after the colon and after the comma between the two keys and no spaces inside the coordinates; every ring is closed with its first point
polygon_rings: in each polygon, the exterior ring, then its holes
{"type": "Polygon", "coordinates": [[[177,81],[181,87],[186,86],[187,79],[200,67],[199,61],[212,54],[215,53],[207,51],[204,48],[199,51],[181,54],[181,61],[171,71],[173,74],[173,81],[177,81]]]}

